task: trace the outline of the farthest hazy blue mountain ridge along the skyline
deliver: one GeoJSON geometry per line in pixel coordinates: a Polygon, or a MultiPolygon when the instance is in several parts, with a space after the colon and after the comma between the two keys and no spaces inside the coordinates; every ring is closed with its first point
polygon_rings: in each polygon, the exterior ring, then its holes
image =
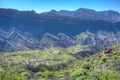
{"type": "MultiPolygon", "coordinates": [[[[18,12],[19,10],[17,9],[4,9],[0,8],[0,12],[4,11],[12,11],[18,12]]],[[[44,14],[51,14],[51,15],[56,15],[56,16],[68,16],[68,17],[73,17],[76,19],[82,19],[82,20],[105,20],[105,21],[110,21],[110,22],[120,22],[120,13],[114,10],[104,10],[104,11],[95,11],[93,9],[87,9],[87,8],[79,8],[75,11],[68,11],[68,10],[51,10],[48,12],[42,12],[42,13],[36,13],[34,10],[29,10],[29,11],[20,11],[23,13],[29,13],[33,15],[44,15],[44,14]]]]}

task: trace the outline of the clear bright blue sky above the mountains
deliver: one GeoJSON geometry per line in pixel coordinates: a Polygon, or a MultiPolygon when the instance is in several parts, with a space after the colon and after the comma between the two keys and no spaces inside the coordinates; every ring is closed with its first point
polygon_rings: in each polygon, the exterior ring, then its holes
{"type": "Polygon", "coordinates": [[[0,8],[35,10],[36,12],[55,10],[76,10],[89,8],[97,11],[116,10],[120,12],[120,0],[0,0],[0,8]]]}

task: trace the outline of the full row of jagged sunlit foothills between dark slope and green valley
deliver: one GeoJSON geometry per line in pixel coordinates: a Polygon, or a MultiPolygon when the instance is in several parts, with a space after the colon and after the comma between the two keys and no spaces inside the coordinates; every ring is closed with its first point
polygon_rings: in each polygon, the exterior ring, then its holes
{"type": "Polygon", "coordinates": [[[86,31],[76,36],[68,36],[65,33],[58,33],[58,35],[45,33],[41,39],[36,39],[33,35],[14,27],[8,31],[0,30],[0,33],[1,52],[43,50],[51,47],[67,48],[76,45],[89,45],[91,50],[99,51],[120,44],[119,31],[116,33],[106,31],[91,33],[86,31]]]}

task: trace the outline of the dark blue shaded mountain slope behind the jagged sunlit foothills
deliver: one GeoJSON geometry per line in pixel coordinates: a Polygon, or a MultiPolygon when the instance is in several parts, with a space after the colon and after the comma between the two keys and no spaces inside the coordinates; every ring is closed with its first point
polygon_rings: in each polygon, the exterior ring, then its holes
{"type": "Polygon", "coordinates": [[[102,19],[85,20],[63,15],[37,14],[33,11],[13,9],[0,9],[0,13],[1,29],[9,30],[11,27],[16,27],[21,31],[34,35],[36,38],[41,38],[46,32],[54,35],[65,33],[69,36],[75,36],[86,30],[94,33],[100,30],[108,32],[120,30],[119,22],[112,23],[102,19]]]}

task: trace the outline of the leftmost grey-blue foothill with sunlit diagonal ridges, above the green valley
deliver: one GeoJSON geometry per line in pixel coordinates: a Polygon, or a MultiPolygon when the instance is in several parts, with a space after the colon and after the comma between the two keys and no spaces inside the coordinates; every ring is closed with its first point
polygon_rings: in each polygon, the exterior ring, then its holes
{"type": "Polygon", "coordinates": [[[0,33],[0,51],[11,52],[40,49],[39,41],[33,39],[30,35],[23,33],[16,28],[11,28],[8,32],[1,30],[0,33]]]}

